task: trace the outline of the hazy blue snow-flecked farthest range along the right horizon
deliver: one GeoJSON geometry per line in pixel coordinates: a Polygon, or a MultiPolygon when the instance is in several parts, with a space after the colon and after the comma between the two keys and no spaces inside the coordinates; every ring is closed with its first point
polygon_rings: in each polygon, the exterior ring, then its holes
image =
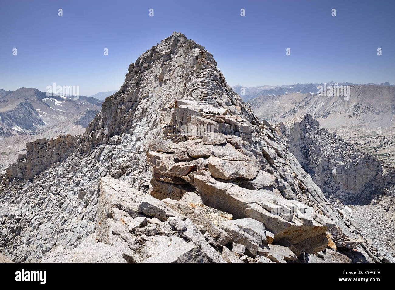
{"type": "MultiPolygon", "coordinates": [[[[327,82],[327,86],[357,86],[359,84],[352,84],[349,82],[327,82]]],[[[365,84],[366,86],[390,86],[393,87],[395,85],[389,84],[389,82],[383,84],[365,84]]],[[[294,84],[294,85],[284,85],[284,86],[259,86],[259,87],[243,87],[240,85],[233,86],[232,89],[236,93],[238,93],[245,102],[248,100],[252,100],[261,96],[280,96],[289,93],[302,93],[302,94],[315,94],[317,93],[318,86],[323,86],[324,84],[294,84]],[[244,92],[243,92],[244,89],[244,92]]]]}

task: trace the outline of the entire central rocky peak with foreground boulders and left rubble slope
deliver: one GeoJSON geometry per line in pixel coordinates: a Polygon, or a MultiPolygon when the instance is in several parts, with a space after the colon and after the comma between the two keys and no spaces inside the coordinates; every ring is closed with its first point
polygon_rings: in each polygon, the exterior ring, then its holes
{"type": "Polygon", "coordinates": [[[1,176],[14,262],[387,261],[181,33],[129,66],[85,134],[26,146],[1,176]]]}

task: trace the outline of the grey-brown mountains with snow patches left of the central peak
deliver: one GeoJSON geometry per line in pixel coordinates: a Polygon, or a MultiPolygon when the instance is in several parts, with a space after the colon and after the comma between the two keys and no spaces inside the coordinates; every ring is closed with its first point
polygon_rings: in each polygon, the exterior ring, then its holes
{"type": "Polygon", "coordinates": [[[101,107],[102,100],[94,97],[47,96],[47,93],[27,87],[16,91],[0,89],[0,135],[30,133],[101,107]]]}

